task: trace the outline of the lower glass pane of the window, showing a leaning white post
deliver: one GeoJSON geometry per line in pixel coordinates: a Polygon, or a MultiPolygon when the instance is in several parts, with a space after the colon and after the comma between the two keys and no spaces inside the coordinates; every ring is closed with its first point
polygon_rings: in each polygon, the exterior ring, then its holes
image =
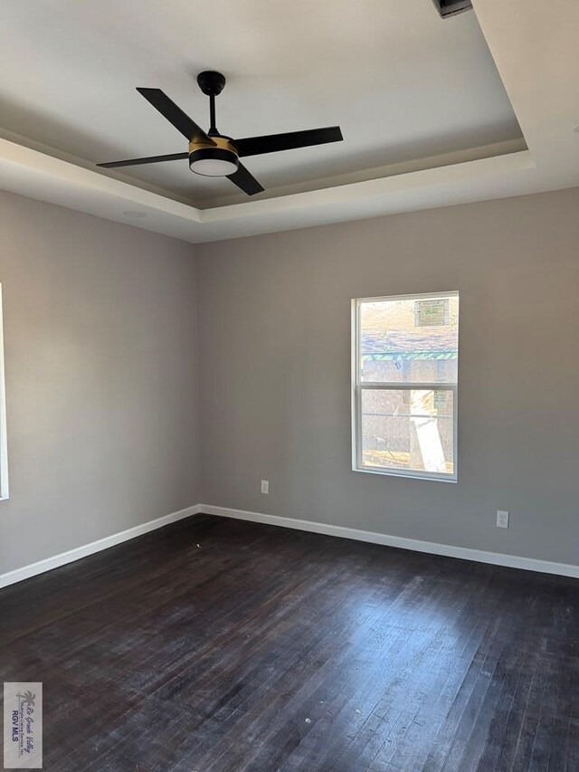
{"type": "Polygon", "coordinates": [[[451,389],[362,389],[362,465],[454,473],[451,389]]]}

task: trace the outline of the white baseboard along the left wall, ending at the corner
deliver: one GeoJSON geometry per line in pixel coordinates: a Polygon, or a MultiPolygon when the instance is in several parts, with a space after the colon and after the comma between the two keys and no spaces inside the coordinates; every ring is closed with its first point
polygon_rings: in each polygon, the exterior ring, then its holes
{"type": "Polygon", "coordinates": [[[88,555],[93,555],[95,552],[100,552],[101,549],[114,547],[116,544],[121,544],[123,541],[143,536],[143,534],[148,533],[150,530],[163,528],[163,526],[174,523],[176,520],[182,520],[191,517],[191,515],[196,515],[199,511],[201,511],[199,504],[195,504],[193,507],[187,507],[185,510],[171,512],[171,514],[164,515],[162,518],[149,520],[147,523],[142,523],[134,528],[121,530],[119,533],[112,534],[112,536],[100,538],[98,541],[91,541],[90,544],[84,544],[82,547],[69,549],[68,552],[62,552],[60,555],[54,555],[52,558],[46,558],[44,560],[39,560],[37,563],[31,563],[30,566],[16,568],[14,571],[9,571],[7,574],[0,575],[0,587],[14,585],[16,582],[22,582],[24,579],[35,577],[37,574],[43,574],[44,571],[51,571],[52,568],[64,566],[66,563],[73,563],[75,560],[80,560],[81,558],[86,558],[88,555]]]}

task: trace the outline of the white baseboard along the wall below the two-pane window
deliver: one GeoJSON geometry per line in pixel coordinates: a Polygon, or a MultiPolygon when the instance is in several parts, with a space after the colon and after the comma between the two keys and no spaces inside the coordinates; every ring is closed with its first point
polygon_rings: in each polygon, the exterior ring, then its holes
{"type": "Polygon", "coordinates": [[[413,549],[415,552],[428,552],[432,555],[444,555],[447,558],[462,558],[463,560],[475,560],[477,563],[490,563],[494,566],[524,568],[527,571],[540,571],[544,574],[556,574],[561,577],[579,578],[579,566],[573,566],[568,563],[555,563],[551,560],[522,558],[517,555],[503,555],[500,552],[487,552],[484,549],[453,547],[451,544],[436,544],[433,541],[421,541],[417,538],[404,538],[401,536],[391,536],[385,533],[375,533],[374,531],[369,530],[334,526],[327,523],[318,523],[314,520],[281,518],[278,515],[264,515],[261,512],[246,512],[244,510],[232,510],[229,507],[214,507],[211,504],[200,504],[197,511],[204,512],[204,514],[207,515],[219,515],[224,518],[267,523],[268,525],[280,526],[281,528],[308,530],[313,533],[323,533],[327,536],[353,538],[356,539],[356,541],[384,544],[384,546],[387,547],[413,549]]]}

